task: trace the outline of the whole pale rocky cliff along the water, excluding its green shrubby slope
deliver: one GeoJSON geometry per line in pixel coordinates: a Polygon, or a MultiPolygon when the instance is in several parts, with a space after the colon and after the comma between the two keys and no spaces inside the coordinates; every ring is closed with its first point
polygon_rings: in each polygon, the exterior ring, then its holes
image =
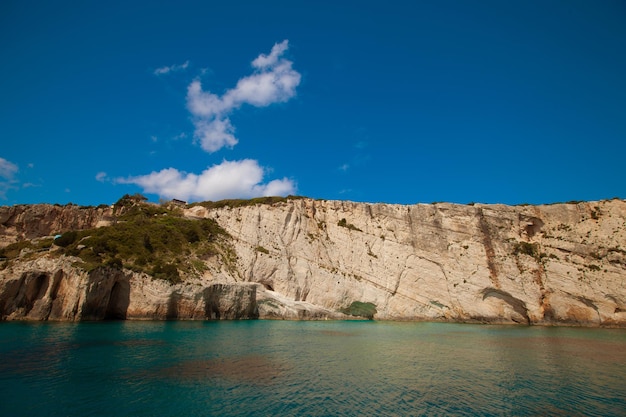
{"type": "MultiPolygon", "coordinates": [[[[0,231],[13,238],[93,227],[107,215],[91,209],[60,220],[25,208],[5,221],[2,210],[0,231]]],[[[626,326],[623,200],[510,207],[301,199],[185,214],[230,233],[234,264],[213,260],[214,272],[169,285],[127,271],[87,274],[52,254],[13,261],[0,271],[0,314],[341,318],[359,302],[376,319],[626,326]]]]}

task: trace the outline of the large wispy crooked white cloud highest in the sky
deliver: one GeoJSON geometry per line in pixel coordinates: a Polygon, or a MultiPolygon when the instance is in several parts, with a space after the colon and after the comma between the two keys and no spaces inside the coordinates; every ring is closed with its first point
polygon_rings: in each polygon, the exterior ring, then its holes
{"type": "Polygon", "coordinates": [[[216,152],[237,144],[228,115],[243,104],[266,107],[295,96],[301,75],[292,68],[293,63],[282,56],[288,48],[289,43],[284,40],[275,44],[269,55],[259,55],[252,61],[255,72],[239,79],[235,88],[221,97],[204,91],[200,80],[189,84],[187,108],[194,117],[194,137],[202,149],[216,152]]]}

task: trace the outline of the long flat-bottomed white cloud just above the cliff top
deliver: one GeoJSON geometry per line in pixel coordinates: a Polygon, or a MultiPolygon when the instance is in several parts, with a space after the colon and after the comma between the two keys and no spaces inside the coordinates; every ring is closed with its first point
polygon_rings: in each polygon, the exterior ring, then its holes
{"type": "Polygon", "coordinates": [[[148,175],[118,178],[117,183],[135,184],[144,192],[165,198],[186,201],[222,200],[226,198],[253,198],[295,193],[295,184],[288,178],[263,182],[265,172],[252,159],[223,161],[201,174],[186,173],[167,168],[148,175]]]}

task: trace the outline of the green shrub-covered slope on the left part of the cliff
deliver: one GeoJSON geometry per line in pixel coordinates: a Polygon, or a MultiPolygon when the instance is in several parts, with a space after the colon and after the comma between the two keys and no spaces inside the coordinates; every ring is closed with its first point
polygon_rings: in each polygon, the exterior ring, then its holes
{"type": "MultiPolygon", "coordinates": [[[[110,226],[68,231],[54,240],[55,253],[77,256],[77,266],[90,271],[101,266],[145,272],[171,283],[185,276],[200,275],[204,261],[221,256],[227,267],[234,251],[228,234],[212,219],[186,219],[173,205],[155,205],[142,196],[124,196],[114,205],[116,217],[110,226]]],[[[22,241],[0,250],[0,257],[20,256],[44,250],[52,239],[39,243],[22,241]]]]}

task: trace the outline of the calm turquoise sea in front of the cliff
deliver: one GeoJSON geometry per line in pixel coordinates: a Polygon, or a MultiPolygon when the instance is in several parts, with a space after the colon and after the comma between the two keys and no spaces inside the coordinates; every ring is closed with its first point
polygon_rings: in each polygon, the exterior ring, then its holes
{"type": "Polygon", "coordinates": [[[626,330],[0,323],[0,416],[624,416],[626,330]]]}

